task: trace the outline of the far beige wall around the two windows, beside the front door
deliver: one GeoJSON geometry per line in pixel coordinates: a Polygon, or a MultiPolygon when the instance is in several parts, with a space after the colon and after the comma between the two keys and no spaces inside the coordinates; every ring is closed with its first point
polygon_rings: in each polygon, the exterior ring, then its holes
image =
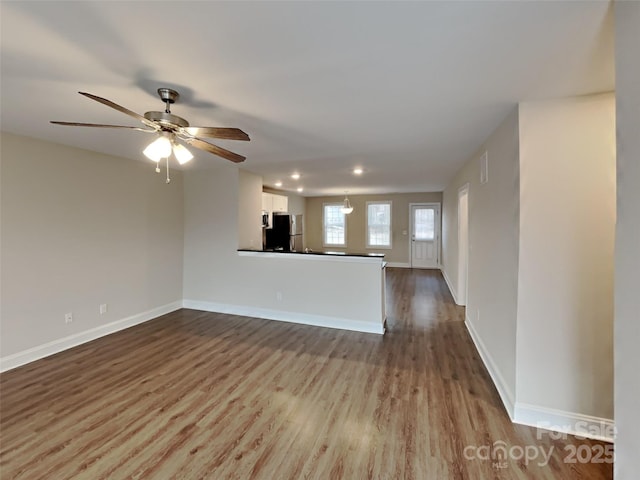
{"type": "MultiPolygon", "coordinates": [[[[322,205],[342,203],[340,197],[307,197],[305,209],[306,246],[312,250],[327,250],[322,245],[322,205]]],[[[442,203],[442,193],[393,193],[384,195],[349,195],[353,212],[347,215],[347,247],[331,247],[330,250],[354,253],[380,252],[387,262],[409,265],[409,204],[442,203]],[[372,201],[392,203],[392,249],[366,247],[366,204],[372,201]],[[403,233],[406,232],[406,233],[403,233]]]]}

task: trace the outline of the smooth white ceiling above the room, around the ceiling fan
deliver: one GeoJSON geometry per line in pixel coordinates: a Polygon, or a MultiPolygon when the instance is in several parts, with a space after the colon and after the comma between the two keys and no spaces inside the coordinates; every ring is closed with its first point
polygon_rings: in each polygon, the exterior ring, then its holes
{"type": "MultiPolygon", "coordinates": [[[[156,89],[303,195],[440,191],[520,100],[613,90],[609,2],[7,2],[2,129],[134,160],[156,89]],[[350,172],[365,170],[361,177],[350,172]],[[302,174],[295,182],[294,171],[302,174]]],[[[195,150],[191,148],[191,150],[195,150]]],[[[194,152],[196,153],[196,152],[194,152]]],[[[226,160],[198,152],[189,168],[226,160]]]]}

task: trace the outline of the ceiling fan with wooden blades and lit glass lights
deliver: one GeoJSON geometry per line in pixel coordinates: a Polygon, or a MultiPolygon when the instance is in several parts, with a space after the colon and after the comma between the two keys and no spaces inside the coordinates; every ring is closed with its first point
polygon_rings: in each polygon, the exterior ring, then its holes
{"type": "MultiPolygon", "coordinates": [[[[184,118],[179,117],[171,113],[171,104],[175,103],[180,95],[175,90],[171,88],[159,88],[158,95],[165,103],[164,112],[146,112],[143,115],[140,115],[136,112],[132,112],[131,110],[122,107],[116,103],[113,103],[111,100],[107,100],[106,98],[98,97],[97,95],[92,95],[86,92],[78,92],[80,95],[84,95],[96,102],[102,103],[108,107],[111,107],[119,112],[122,112],[126,115],[129,115],[136,120],[139,120],[144,124],[146,128],[143,127],[130,127],[126,125],[104,125],[99,123],[79,123],[79,122],[59,122],[59,121],[51,121],[56,125],[66,125],[73,127],[99,127],[99,128],[124,128],[129,130],[137,130],[140,132],[146,133],[155,133],[158,135],[158,138],[154,140],[149,146],[144,150],[144,154],[151,160],[155,162],[160,162],[161,159],[167,159],[173,151],[174,156],[178,160],[180,164],[186,163],[193,158],[193,155],[187,148],[178,143],[178,139],[183,142],[199,148],[201,150],[207,151],[209,153],[213,153],[214,155],[218,155],[219,157],[225,158],[235,163],[244,162],[246,157],[242,155],[238,155],[237,153],[230,152],[222,147],[218,147],[217,145],[213,145],[209,142],[202,140],[200,137],[207,138],[222,138],[226,140],[244,140],[249,141],[249,135],[240,130],[239,128],[219,128],[219,127],[191,127],[189,126],[189,122],[187,122],[184,118]]],[[[159,172],[160,169],[156,168],[156,171],[159,172]]],[[[168,180],[168,177],[167,177],[168,180]]]]}

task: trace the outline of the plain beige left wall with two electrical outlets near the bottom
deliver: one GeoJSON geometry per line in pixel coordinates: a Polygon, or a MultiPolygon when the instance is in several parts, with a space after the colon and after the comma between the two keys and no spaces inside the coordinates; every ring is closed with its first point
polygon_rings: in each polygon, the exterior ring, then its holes
{"type": "Polygon", "coordinates": [[[1,148],[3,368],[181,300],[180,172],[167,185],[142,162],[8,133],[1,148]]]}

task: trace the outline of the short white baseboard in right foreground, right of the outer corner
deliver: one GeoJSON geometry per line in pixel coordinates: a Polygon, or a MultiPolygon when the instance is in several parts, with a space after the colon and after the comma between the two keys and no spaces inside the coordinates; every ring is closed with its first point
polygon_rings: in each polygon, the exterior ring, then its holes
{"type": "Polygon", "coordinates": [[[609,418],[565,412],[520,402],[516,403],[513,422],[558,432],[555,435],[538,432],[539,438],[542,438],[543,435],[549,435],[552,438],[563,438],[566,434],[605,442],[613,442],[615,438],[615,424],[609,418]]]}

